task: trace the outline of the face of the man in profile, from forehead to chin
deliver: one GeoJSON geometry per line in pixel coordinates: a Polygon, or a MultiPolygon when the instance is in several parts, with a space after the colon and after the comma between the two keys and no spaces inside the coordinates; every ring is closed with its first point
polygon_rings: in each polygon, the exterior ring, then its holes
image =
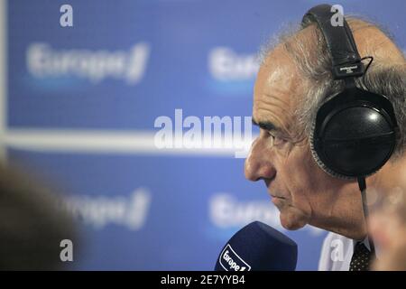
{"type": "MultiPolygon", "coordinates": [[[[305,93],[300,72],[288,53],[277,47],[263,63],[254,86],[253,122],[260,126],[260,135],[245,161],[245,177],[265,182],[281,211],[281,225],[288,229],[308,223],[326,228],[325,219],[334,223],[336,217],[340,222],[351,215],[337,208],[345,204],[338,194],[348,189],[348,182],[319,169],[307,138],[298,134],[293,111],[305,93]]],[[[351,205],[346,203],[350,209],[351,205]]],[[[360,206],[356,201],[354,205],[360,206]]]]}

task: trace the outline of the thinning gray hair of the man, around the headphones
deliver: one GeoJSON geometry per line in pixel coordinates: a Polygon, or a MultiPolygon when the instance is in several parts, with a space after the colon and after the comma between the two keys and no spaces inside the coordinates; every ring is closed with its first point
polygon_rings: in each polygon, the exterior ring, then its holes
{"type": "MultiPolygon", "coordinates": [[[[353,32],[357,29],[375,27],[389,39],[392,39],[382,28],[364,19],[349,16],[346,17],[346,21],[353,32]],[[354,23],[357,23],[355,28],[352,25],[354,23]]],[[[283,45],[284,49],[291,55],[291,59],[295,61],[304,79],[308,80],[308,89],[294,111],[300,128],[299,134],[308,138],[318,107],[328,99],[328,96],[334,96],[344,89],[344,80],[332,79],[331,57],[328,53],[327,43],[318,27],[314,29],[317,43],[309,42],[309,39],[304,39],[304,37],[298,37],[298,33],[309,25],[315,24],[303,23],[300,27],[290,28],[287,33],[279,35],[266,46],[263,46],[259,55],[260,61],[263,62],[269,51],[272,51],[276,45],[283,45]]],[[[373,48],[368,49],[374,51],[373,48]]],[[[355,80],[357,87],[383,94],[392,102],[400,128],[400,135],[392,159],[396,159],[406,150],[406,65],[404,55],[401,55],[403,63],[394,63],[393,61],[386,63],[382,59],[375,58],[364,79],[355,80]]]]}

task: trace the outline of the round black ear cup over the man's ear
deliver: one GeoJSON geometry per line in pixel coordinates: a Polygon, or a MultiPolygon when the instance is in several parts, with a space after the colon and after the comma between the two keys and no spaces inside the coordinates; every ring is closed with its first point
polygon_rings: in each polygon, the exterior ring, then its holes
{"type": "Polygon", "coordinates": [[[309,137],[313,159],[334,177],[371,175],[391,157],[396,127],[389,99],[345,89],[318,109],[309,137]]]}

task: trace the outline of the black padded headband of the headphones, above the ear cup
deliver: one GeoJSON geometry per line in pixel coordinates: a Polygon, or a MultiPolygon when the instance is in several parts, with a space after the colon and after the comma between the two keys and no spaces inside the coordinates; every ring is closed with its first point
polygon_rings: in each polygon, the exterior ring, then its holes
{"type": "MultiPolygon", "coordinates": [[[[317,5],[311,8],[302,19],[317,23],[327,42],[328,52],[332,59],[331,72],[334,79],[359,77],[364,74],[364,64],[356,49],[353,33],[343,15],[343,25],[333,26],[331,19],[336,14],[331,5],[317,5]]],[[[338,12],[337,12],[338,13],[338,12]]]]}

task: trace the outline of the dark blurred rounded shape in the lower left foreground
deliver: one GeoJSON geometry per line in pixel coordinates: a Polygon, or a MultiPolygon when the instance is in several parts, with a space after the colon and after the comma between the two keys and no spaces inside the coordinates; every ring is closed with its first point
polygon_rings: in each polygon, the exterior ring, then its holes
{"type": "Polygon", "coordinates": [[[60,259],[60,242],[69,239],[75,246],[77,234],[60,201],[31,176],[0,166],[0,270],[71,266],[60,259]]]}

